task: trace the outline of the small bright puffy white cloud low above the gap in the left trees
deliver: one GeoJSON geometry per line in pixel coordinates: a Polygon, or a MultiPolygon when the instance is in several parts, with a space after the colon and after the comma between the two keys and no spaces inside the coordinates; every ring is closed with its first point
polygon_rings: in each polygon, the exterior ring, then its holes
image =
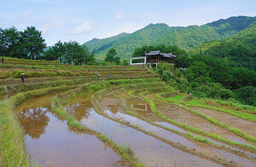
{"type": "Polygon", "coordinates": [[[69,31],[67,30],[67,34],[83,34],[83,33],[89,33],[94,29],[93,23],[91,21],[84,21],[82,25],[77,26],[73,30],[69,31]]]}

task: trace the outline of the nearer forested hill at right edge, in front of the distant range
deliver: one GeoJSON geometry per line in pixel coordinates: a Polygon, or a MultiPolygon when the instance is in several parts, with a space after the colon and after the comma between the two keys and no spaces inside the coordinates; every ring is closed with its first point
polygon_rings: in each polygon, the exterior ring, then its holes
{"type": "Polygon", "coordinates": [[[256,71],[256,22],[235,34],[233,38],[205,42],[191,53],[221,58],[230,66],[247,67],[256,71]]]}

